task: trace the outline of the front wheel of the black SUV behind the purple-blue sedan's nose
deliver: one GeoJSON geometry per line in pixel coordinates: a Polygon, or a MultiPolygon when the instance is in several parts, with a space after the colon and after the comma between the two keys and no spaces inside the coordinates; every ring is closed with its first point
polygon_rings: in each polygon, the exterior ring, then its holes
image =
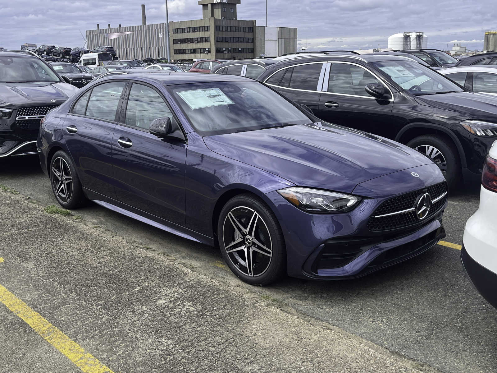
{"type": "Polygon", "coordinates": [[[414,138],[407,145],[429,156],[440,167],[449,188],[454,189],[460,185],[461,160],[456,146],[450,139],[440,135],[423,135],[414,138]],[[429,147],[434,148],[434,150],[429,147]],[[440,154],[437,154],[437,150],[440,154]],[[434,157],[430,156],[430,154],[434,155],[434,157]],[[445,168],[440,155],[445,160],[445,168]]]}

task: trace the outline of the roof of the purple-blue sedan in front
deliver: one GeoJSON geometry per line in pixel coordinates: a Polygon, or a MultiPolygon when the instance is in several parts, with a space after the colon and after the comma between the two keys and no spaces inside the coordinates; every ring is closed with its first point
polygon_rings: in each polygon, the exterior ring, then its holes
{"type": "MultiPolygon", "coordinates": [[[[122,77],[120,77],[122,79],[122,77]]],[[[110,76],[108,79],[119,79],[115,76],[110,76]]],[[[148,83],[159,83],[166,86],[174,86],[177,84],[194,84],[194,83],[208,83],[208,82],[253,82],[253,79],[239,77],[236,75],[224,74],[192,74],[192,73],[174,73],[158,71],[156,74],[150,75],[148,72],[142,74],[129,74],[126,79],[137,81],[144,81],[148,83]]]]}

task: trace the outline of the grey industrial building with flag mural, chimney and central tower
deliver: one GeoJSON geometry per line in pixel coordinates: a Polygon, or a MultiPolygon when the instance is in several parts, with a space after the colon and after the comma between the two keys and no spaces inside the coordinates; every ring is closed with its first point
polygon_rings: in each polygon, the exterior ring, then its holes
{"type": "MultiPolygon", "coordinates": [[[[194,59],[251,59],[277,57],[297,51],[297,28],[257,26],[255,20],[238,19],[241,0],[199,0],[202,19],[169,22],[171,62],[194,59]]],[[[166,57],[166,23],[142,24],[86,31],[88,48],[108,45],[120,59],[166,57]]]]}

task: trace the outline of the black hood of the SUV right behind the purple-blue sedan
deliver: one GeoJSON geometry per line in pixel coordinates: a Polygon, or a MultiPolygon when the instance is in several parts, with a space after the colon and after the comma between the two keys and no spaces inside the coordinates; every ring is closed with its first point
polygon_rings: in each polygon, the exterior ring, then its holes
{"type": "Polygon", "coordinates": [[[497,96],[476,92],[456,92],[415,96],[425,106],[467,114],[468,118],[497,122],[497,96]]]}

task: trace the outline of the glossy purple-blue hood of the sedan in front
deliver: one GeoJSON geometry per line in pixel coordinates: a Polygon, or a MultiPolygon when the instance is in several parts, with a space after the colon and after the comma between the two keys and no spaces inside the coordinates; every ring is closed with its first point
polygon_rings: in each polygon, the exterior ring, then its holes
{"type": "Polygon", "coordinates": [[[432,164],[395,141],[328,123],[207,136],[204,142],[297,186],[347,193],[365,181],[432,164]]]}

